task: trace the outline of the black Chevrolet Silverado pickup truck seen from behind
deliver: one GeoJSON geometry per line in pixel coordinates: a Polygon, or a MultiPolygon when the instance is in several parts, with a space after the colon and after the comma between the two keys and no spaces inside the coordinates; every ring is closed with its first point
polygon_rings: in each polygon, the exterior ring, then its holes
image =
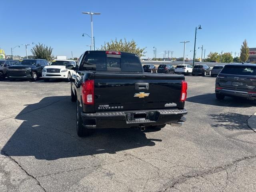
{"type": "Polygon", "coordinates": [[[71,100],[77,103],[78,136],[96,128],[162,128],[181,126],[187,111],[184,75],[145,73],[136,54],[86,51],[71,80],[71,100]]]}

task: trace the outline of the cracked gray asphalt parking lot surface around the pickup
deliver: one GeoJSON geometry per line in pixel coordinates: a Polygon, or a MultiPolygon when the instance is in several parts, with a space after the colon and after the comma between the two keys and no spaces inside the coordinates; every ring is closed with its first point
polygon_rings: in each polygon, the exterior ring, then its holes
{"type": "Polygon", "coordinates": [[[0,82],[0,191],[256,191],[255,105],[216,100],[215,78],[186,80],[182,127],[87,138],[69,83],[0,82]]]}

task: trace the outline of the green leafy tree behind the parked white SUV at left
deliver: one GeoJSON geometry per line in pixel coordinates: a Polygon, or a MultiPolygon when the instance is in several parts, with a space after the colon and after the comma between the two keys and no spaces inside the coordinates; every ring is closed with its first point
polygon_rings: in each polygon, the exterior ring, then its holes
{"type": "Polygon", "coordinates": [[[51,61],[54,58],[52,50],[53,48],[38,43],[31,49],[31,52],[34,59],[46,59],[51,61]]]}

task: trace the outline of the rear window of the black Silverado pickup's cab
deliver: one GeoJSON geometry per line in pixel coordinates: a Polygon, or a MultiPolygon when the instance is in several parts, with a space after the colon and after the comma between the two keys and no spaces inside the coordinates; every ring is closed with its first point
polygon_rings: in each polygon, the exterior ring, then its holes
{"type": "Polygon", "coordinates": [[[106,54],[87,54],[82,70],[142,72],[137,56],[121,55],[120,58],[107,57],[106,54]]]}

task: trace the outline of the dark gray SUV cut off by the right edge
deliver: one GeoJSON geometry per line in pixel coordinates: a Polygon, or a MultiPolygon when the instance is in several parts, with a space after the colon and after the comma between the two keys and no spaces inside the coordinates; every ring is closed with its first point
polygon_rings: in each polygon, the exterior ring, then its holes
{"type": "Polygon", "coordinates": [[[225,65],[215,83],[216,98],[238,96],[256,101],[256,64],[225,65]]]}

